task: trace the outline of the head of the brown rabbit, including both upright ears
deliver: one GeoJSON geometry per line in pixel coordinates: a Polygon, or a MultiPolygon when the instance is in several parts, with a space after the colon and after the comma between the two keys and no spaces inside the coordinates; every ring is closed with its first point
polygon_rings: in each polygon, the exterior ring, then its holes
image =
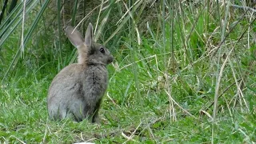
{"type": "Polygon", "coordinates": [[[72,26],[66,27],[66,35],[70,42],[78,49],[79,64],[102,64],[107,65],[113,62],[113,56],[105,46],[93,42],[93,26],[89,24],[85,38],[72,26]]]}

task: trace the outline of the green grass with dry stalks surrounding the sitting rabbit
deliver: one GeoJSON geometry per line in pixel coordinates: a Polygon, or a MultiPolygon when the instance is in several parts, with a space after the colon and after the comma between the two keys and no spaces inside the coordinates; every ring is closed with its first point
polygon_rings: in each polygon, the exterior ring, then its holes
{"type": "Polygon", "coordinates": [[[27,6],[24,51],[23,4],[0,25],[0,143],[256,142],[256,22],[236,7],[245,3],[138,1],[130,14],[130,1],[98,6],[79,26],[98,23],[96,39],[115,57],[95,125],[48,118],[50,82],[76,62],[62,27],[90,10],[61,19],[63,2],[47,2],[27,6]]]}

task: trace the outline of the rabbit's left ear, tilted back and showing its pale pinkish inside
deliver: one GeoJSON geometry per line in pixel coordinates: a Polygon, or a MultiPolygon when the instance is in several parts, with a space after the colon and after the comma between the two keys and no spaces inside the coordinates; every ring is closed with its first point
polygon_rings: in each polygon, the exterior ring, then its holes
{"type": "Polygon", "coordinates": [[[82,46],[83,44],[82,34],[77,29],[74,30],[74,27],[67,26],[65,31],[66,31],[67,38],[70,39],[70,42],[75,47],[82,46]]]}

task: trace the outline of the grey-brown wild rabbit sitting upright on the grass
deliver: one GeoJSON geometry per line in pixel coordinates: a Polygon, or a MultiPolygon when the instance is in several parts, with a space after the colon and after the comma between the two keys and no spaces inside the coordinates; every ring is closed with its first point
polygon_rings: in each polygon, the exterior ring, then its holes
{"type": "Polygon", "coordinates": [[[91,23],[85,38],[72,26],[66,27],[66,36],[78,49],[78,63],[66,66],[51,82],[47,97],[49,117],[99,122],[98,110],[108,85],[106,66],[114,57],[105,46],[93,42],[91,23]]]}

